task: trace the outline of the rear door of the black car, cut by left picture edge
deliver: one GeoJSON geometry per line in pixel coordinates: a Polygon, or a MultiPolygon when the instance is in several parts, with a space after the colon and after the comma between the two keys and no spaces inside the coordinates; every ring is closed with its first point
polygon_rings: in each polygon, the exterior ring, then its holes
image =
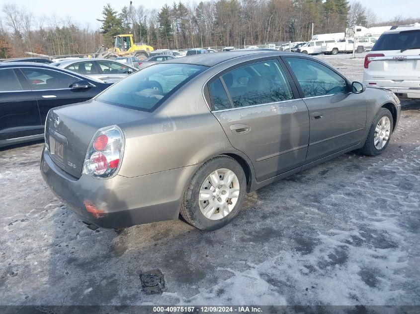
{"type": "Polygon", "coordinates": [[[19,81],[14,69],[0,69],[0,137],[7,140],[43,132],[35,94],[19,81]]]}

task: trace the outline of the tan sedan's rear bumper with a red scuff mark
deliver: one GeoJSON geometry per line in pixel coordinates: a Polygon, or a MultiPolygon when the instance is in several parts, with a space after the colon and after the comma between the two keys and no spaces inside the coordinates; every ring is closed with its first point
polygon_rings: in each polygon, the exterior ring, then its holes
{"type": "Polygon", "coordinates": [[[185,184],[196,166],[126,178],[74,178],[45,149],[41,174],[53,192],[81,219],[102,228],[122,228],[177,219],[185,184]]]}

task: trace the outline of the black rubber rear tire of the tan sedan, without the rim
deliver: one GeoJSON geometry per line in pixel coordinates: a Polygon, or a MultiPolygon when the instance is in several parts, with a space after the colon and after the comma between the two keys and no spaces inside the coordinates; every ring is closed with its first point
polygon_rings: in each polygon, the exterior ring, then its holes
{"type": "Polygon", "coordinates": [[[206,161],[194,174],[188,184],[181,203],[180,213],[187,223],[201,230],[216,230],[232,221],[241,210],[247,189],[247,182],[244,170],[233,158],[228,156],[217,156],[206,161]],[[229,169],[235,173],[239,181],[239,197],[235,207],[224,218],[211,220],[204,216],[198,205],[198,194],[203,182],[214,171],[218,169],[229,169]]]}

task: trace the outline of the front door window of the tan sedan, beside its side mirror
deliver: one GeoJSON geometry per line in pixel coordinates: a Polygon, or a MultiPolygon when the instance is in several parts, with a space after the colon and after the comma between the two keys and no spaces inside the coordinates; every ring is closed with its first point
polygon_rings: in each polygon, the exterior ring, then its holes
{"type": "Polygon", "coordinates": [[[304,97],[345,93],[347,83],[329,67],[307,59],[286,58],[295,74],[304,97]]]}

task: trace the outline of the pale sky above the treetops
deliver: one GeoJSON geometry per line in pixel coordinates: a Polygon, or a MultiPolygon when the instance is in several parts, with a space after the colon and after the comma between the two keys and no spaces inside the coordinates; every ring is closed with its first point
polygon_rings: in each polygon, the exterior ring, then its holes
{"type": "MultiPolygon", "coordinates": [[[[178,2],[179,0],[176,0],[178,2]]],[[[195,0],[199,2],[200,0],[195,0]]],[[[420,0],[359,0],[365,7],[372,9],[378,20],[389,20],[396,15],[402,17],[420,17],[420,0]]],[[[194,2],[194,0],[185,0],[182,2],[194,2]]],[[[352,1],[349,1],[350,4],[352,1]]],[[[118,11],[126,5],[130,5],[130,0],[70,0],[70,1],[52,1],[52,0],[0,0],[0,8],[5,3],[15,3],[17,6],[24,6],[32,11],[35,16],[52,16],[65,18],[70,16],[72,20],[90,28],[99,28],[100,22],[97,18],[102,16],[102,8],[106,3],[110,3],[118,11]],[[61,3],[60,3],[61,2],[61,3]],[[66,4],[67,3],[67,4],[66,4]]],[[[145,8],[161,8],[165,3],[172,4],[173,0],[133,0],[133,6],[142,4],[145,8]]],[[[1,16],[1,15],[0,15],[1,16]]],[[[419,21],[420,22],[420,21],[419,21]]]]}

